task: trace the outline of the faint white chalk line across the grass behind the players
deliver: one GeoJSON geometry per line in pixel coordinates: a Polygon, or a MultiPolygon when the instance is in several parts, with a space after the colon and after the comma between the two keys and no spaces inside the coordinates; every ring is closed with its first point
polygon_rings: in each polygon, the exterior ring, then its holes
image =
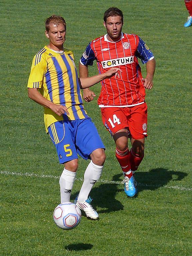
{"type": "MultiPolygon", "coordinates": [[[[59,179],[60,176],[54,176],[54,175],[46,175],[46,174],[37,174],[37,173],[21,173],[21,172],[7,172],[7,171],[0,171],[0,174],[5,174],[5,175],[14,175],[14,176],[27,176],[27,177],[36,177],[36,178],[51,178],[51,179],[59,179]]],[[[83,181],[82,178],[76,178],[76,180],[83,181]]],[[[105,184],[122,184],[121,181],[108,181],[108,180],[103,180],[100,179],[98,181],[99,183],[105,183],[105,184]]],[[[187,190],[187,191],[192,191],[192,188],[186,188],[182,186],[168,186],[168,185],[161,185],[161,184],[154,184],[154,185],[148,185],[148,184],[143,184],[143,183],[137,183],[138,185],[142,187],[164,187],[164,188],[172,188],[172,189],[177,189],[177,190],[187,190]]]]}

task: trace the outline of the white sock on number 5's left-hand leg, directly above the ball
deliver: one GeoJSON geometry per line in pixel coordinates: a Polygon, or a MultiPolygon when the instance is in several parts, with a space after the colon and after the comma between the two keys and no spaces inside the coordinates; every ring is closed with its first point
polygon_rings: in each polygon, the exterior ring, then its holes
{"type": "Polygon", "coordinates": [[[70,201],[71,189],[75,181],[75,176],[76,172],[71,172],[64,168],[59,179],[61,203],[70,201]]]}

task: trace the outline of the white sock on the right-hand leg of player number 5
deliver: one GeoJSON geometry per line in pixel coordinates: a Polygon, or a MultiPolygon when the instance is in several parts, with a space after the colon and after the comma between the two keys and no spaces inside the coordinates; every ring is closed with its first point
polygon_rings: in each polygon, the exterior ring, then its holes
{"type": "Polygon", "coordinates": [[[83,185],[78,195],[78,201],[87,200],[93,185],[99,180],[102,170],[103,166],[96,165],[92,161],[88,164],[84,173],[83,185]]]}

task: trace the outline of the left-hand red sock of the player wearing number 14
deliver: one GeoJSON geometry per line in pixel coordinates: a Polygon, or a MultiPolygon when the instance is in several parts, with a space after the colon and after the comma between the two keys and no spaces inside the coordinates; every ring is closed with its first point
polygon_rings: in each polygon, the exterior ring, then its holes
{"type": "Polygon", "coordinates": [[[131,166],[130,166],[130,162],[129,162],[129,153],[130,152],[129,152],[128,148],[124,151],[120,151],[119,149],[116,148],[115,156],[121,166],[121,169],[122,169],[124,175],[131,178],[133,174],[130,171],[131,166]]]}

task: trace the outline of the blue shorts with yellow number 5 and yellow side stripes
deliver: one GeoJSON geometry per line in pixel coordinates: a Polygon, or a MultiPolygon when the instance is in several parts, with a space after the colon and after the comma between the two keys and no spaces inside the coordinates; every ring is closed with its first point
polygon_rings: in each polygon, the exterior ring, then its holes
{"type": "Polygon", "coordinates": [[[77,159],[77,154],[87,160],[95,149],[105,149],[91,118],[58,121],[48,127],[48,132],[60,164],[77,159]]]}

